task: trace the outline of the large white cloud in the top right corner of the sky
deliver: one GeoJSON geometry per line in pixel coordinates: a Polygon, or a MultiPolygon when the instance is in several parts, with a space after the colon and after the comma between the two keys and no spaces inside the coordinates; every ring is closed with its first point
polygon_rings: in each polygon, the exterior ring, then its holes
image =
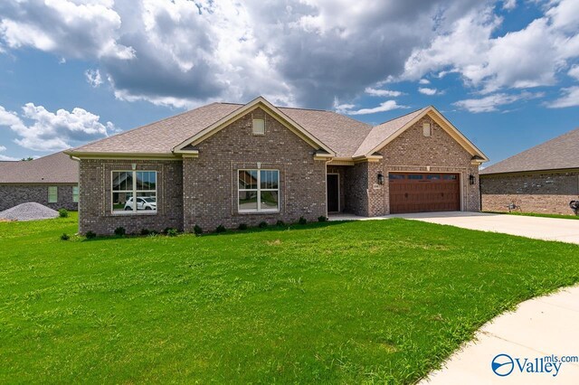
{"type": "Polygon", "coordinates": [[[481,12],[471,10],[428,48],[414,49],[401,79],[456,71],[468,86],[483,93],[552,86],[567,61],[579,57],[579,23],[569,14],[579,13],[579,2],[560,0],[549,5],[543,17],[502,36],[496,36],[502,19],[491,6],[481,12]]]}

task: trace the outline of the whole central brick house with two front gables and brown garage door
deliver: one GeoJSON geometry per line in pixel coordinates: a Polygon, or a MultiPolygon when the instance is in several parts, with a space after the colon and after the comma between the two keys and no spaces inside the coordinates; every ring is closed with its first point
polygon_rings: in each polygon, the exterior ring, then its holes
{"type": "Polygon", "coordinates": [[[318,221],[328,212],[479,211],[487,161],[432,107],[372,127],[261,97],[213,103],[67,154],[81,163],[80,230],[100,234],[318,221]]]}

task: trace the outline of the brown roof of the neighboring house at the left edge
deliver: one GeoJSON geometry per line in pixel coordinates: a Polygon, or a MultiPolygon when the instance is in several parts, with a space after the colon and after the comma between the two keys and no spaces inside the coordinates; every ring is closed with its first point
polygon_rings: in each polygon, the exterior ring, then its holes
{"type": "Polygon", "coordinates": [[[62,152],[32,161],[0,162],[0,183],[79,183],[79,163],[62,152]]]}

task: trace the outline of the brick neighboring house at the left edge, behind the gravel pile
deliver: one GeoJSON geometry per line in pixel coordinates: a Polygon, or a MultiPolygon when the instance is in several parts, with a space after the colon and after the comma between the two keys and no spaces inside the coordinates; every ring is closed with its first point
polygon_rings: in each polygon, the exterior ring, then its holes
{"type": "Polygon", "coordinates": [[[0,211],[25,202],[78,210],[79,163],[64,153],[0,162],[0,211]]]}

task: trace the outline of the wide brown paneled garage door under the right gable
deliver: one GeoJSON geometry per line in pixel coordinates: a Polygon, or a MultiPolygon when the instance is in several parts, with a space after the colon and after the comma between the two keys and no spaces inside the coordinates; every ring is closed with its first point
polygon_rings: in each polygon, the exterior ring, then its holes
{"type": "Polygon", "coordinates": [[[459,174],[390,173],[390,213],[460,211],[459,174]]]}

